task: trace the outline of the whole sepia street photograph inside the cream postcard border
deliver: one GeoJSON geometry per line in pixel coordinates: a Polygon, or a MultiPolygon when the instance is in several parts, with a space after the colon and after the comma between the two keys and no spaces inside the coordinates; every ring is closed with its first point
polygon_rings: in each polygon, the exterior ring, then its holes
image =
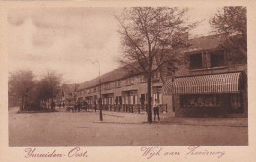
{"type": "Polygon", "coordinates": [[[246,6],[6,19],[9,147],[249,145],[246,6]]]}

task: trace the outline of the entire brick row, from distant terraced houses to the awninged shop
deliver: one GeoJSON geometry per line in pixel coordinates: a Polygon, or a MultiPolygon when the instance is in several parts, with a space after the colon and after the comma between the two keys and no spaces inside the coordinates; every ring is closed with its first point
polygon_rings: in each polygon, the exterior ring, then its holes
{"type": "MultiPolygon", "coordinates": [[[[247,117],[247,65],[229,64],[222,41],[223,35],[190,40],[182,52],[188,61],[173,76],[164,77],[164,85],[158,74],[154,76],[152,97],[162,112],[177,117],[247,117]]],[[[138,111],[148,104],[146,79],[140,74],[131,76],[124,68],[79,84],[76,97],[97,105],[100,91],[104,109],[138,111]]]]}

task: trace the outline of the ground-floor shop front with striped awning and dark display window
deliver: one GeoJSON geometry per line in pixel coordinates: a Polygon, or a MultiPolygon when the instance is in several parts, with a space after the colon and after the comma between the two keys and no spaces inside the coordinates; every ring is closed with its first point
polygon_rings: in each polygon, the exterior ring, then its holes
{"type": "MultiPolygon", "coordinates": [[[[242,72],[176,78],[168,91],[177,117],[226,117],[246,114],[242,72]],[[171,89],[170,89],[171,88],[171,89]]],[[[166,91],[166,90],[165,90],[166,91]]]]}

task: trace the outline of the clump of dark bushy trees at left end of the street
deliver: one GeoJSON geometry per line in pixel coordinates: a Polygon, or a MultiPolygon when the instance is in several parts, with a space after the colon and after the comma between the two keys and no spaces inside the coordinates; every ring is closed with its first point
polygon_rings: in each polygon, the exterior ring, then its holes
{"type": "Polygon", "coordinates": [[[11,73],[8,81],[9,103],[20,101],[20,110],[38,110],[41,101],[53,101],[59,92],[61,76],[48,72],[41,80],[35,80],[32,71],[11,73]]]}

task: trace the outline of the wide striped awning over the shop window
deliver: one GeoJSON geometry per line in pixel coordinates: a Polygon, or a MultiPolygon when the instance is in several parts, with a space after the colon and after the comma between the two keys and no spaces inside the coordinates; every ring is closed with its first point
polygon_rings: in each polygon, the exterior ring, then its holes
{"type": "Polygon", "coordinates": [[[165,94],[236,93],[239,92],[240,76],[239,72],[176,78],[174,82],[166,82],[163,92],[165,94]]]}

